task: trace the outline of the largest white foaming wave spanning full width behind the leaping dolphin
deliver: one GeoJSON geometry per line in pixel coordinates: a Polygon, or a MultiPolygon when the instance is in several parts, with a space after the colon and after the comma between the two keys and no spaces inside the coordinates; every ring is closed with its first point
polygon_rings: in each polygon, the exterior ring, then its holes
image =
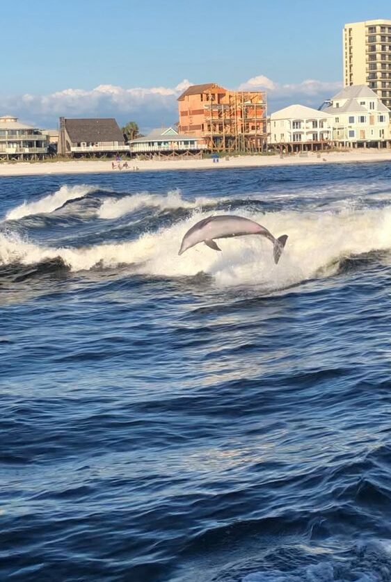
{"type": "Polygon", "coordinates": [[[157,232],[145,232],[134,241],[82,248],[45,247],[17,234],[0,234],[0,264],[35,264],[59,257],[73,271],[125,264],[143,275],[193,277],[205,273],[221,286],[257,284],[266,289],[285,289],[312,278],[335,275],[349,257],[391,248],[391,206],[340,213],[241,214],[257,220],[275,236],[289,236],[278,265],[273,262],[271,243],[259,236],[221,239],[222,252],[200,244],[179,257],[182,237],[197,220],[208,216],[205,212],[193,213],[191,218],[157,232]]]}

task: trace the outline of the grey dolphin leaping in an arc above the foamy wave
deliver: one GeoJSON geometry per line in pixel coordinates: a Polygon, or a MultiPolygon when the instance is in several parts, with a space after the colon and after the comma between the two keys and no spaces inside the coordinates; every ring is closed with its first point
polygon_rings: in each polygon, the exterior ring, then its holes
{"type": "Polygon", "coordinates": [[[269,239],[273,243],[274,262],[278,263],[287,242],[287,234],[282,234],[276,239],[268,229],[255,223],[254,220],[243,218],[242,216],[232,216],[231,214],[208,216],[208,218],[204,218],[196,225],[193,225],[184,235],[178,254],[182,254],[188,248],[202,242],[209,248],[221,250],[214,242],[214,239],[229,239],[232,236],[244,236],[246,234],[260,234],[269,239]]]}

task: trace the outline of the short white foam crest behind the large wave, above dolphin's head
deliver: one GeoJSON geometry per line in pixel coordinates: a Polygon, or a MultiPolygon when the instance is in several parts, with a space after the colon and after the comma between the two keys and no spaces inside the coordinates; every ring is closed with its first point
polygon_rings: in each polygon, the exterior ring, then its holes
{"type": "Polygon", "coordinates": [[[102,206],[97,211],[97,216],[98,218],[106,219],[120,218],[120,216],[145,207],[158,207],[161,210],[177,208],[191,209],[217,204],[219,200],[216,198],[198,197],[191,202],[190,200],[184,200],[182,198],[180,190],[168,191],[166,196],[141,192],[117,200],[104,200],[102,206]]]}

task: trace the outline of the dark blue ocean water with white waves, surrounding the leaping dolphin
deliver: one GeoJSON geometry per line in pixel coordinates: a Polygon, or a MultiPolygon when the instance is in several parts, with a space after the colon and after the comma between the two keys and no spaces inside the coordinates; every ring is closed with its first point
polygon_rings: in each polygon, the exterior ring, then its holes
{"type": "Polygon", "coordinates": [[[1,179],[0,580],[391,581],[390,249],[390,163],[1,179]]]}

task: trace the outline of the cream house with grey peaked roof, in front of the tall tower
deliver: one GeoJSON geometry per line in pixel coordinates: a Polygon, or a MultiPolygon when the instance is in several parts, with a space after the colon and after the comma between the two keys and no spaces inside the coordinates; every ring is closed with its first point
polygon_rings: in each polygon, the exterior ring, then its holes
{"type": "Polygon", "coordinates": [[[344,87],[324,111],[333,115],[333,141],[348,147],[386,147],[390,111],[366,85],[344,87]]]}

